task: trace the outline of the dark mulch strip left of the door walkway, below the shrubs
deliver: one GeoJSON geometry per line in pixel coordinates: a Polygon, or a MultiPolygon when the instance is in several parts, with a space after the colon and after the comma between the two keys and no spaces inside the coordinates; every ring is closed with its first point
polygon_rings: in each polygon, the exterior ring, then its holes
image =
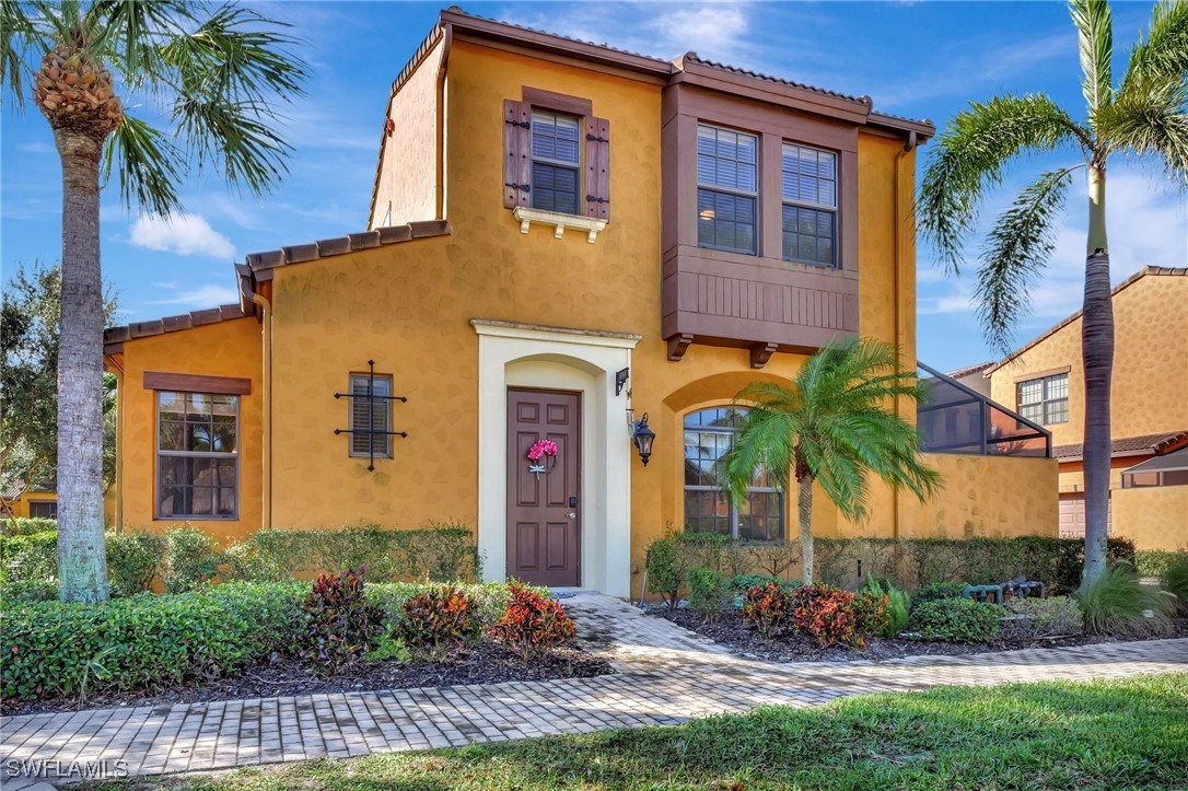
{"type": "Polygon", "coordinates": [[[525,662],[507,648],[484,643],[468,650],[456,662],[393,660],[364,663],[333,678],[323,678],[292,657],[261,663],[226,678],[189,686],[151,690],[112,690],[76,697],[51,697],[38,701],[4,701],[0,714],[44,714],[110,709],[138,705],[171,705],[232,701],[253,697],[286,697],[323,692],[362,692],[368,690],[410,689],[415,686],[456,686],[461,684],[498,684],[556,678],[589,678],[614,672],[606,659],[579,648],[560,648],[551,656],[525,662]]]}

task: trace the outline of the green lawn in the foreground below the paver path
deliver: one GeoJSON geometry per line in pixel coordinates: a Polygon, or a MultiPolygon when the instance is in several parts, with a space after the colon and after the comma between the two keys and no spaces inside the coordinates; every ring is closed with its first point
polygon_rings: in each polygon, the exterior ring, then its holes
{"type": "MultiPolygon", "coordinates": [[[[1188,787],[1188,673],[870,695],[678,727],[321,759],[135,787],[1188,787]]],[[[127,787],[110,785],[105,787],[127,787]]]]}

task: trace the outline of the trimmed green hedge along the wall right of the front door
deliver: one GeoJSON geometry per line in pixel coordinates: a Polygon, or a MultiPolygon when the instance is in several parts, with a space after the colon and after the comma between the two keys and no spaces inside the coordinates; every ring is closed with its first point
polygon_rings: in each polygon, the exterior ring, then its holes
{"type": "MultiPolygon", "coordinates": [[[[664,591],[687,587],[687,570],[706,567],[728,577],[763,574],[788,578],[801,574],[798,540],[775,543],[733,542],[725,536],[675,533],[658,539],[662,549],[650,557],[649,589],[663,593],[652,582],[653,571],[664,580],[664,591]],[[674,553],[675,552],[675,553],[674,553]]],[[[935,582],[990,584],[1023,576],[1048,584],[1050,593],[1067,593],[1080,586],[1085,542],[1074,538],[1023,536],[1019,538],[817,538],[814,542],[814,578],[836,587],[860,584],[868,576],[893,581],[917,590],[935,582]]],[[[1135,545],[1127,538],[1110,539],[1112,562],[1135,562],[1135,545]]]]}

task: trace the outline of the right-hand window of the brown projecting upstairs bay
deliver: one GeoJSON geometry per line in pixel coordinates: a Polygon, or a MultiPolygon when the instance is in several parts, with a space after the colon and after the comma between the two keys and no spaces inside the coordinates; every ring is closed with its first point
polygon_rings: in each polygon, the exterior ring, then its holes
{"type": "Polygon", "coordinates": [[[784,260],[836,266],[836,154],[785,143],[782,184],[784,260]]]}

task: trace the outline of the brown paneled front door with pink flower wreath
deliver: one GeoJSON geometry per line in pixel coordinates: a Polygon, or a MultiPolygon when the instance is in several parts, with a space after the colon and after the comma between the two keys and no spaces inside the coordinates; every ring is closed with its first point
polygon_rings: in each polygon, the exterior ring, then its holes
{"type": "Polygon", "coordinates": [[[580,398],[551,390],[507,391],[508,577],[555,588],[581,584],[580,398]],[[530,462],[537,439],[557,443],[556,457],[530,462]],[[533,473],[532,464],[549,472],[533,473]]]}

